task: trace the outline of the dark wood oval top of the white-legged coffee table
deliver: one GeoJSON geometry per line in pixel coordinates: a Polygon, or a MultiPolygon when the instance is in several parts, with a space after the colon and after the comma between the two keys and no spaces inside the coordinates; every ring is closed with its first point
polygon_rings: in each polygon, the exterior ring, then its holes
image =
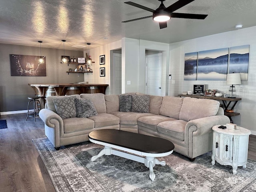
{"type": "Polygon", "coordinates": [[[90,139],[144,152],[166,153],[174,150],[169,140],[116,129],[102,129],[90,132],[90,139]]]}

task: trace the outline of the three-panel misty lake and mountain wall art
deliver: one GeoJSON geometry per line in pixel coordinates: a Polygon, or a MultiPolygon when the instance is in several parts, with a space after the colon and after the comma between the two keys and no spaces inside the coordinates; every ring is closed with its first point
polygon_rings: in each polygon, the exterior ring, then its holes
{"type": "Polygon", "coordinates": [[[226,80],[227,73],[248,79],[249,45],[185,54],[184,80],[226,80]]]}

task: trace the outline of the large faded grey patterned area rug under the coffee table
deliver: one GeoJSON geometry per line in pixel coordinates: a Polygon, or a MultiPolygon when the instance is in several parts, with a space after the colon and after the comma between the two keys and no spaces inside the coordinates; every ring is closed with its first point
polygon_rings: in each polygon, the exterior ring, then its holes
{"type": "Polygon", "coordinates": [[[256,161],[247,167],[211,164],[211,152],[190,162],[173,152],[158,158],[166,166],[156,165],[156,179],[149,178],[144,164],[118,156],[102,156],[91,162],[102,146],[83,142],[55,150],[47,138],[33,140],[57,192],[255,192],[256,161]]]}

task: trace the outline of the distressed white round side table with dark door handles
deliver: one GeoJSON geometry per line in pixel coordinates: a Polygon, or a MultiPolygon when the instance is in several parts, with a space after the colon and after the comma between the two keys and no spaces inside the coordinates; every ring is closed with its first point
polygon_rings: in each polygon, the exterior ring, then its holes
{"type": "MultiPolygon", "coordinates": [[[[230,165],[233,174],[238,166],[246,168],[250,130],[237,126],[235,130],[212,127],[212,165],[217,161],[221,165],[230,165]]],[[[224,125],[225,126],[225,125],[224,125]]]]}

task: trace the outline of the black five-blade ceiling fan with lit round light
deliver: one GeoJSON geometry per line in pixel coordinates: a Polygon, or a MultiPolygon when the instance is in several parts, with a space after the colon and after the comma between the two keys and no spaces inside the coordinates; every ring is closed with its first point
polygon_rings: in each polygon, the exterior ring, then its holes
{"type": "Polygon", "coordinates": [[[162,28],[167,27],[167,21],[170,20],[172,17],[173,18],[187,18],[187,19],[205,19],[208,16],[208,15],[204,15],[204,14],[174,13],[174,11],[178,10],[179,8],[182,8],[183,6],[191,3],[194,0],[178,0],[174,4],[168,6],[167,8],[163,4],[163,1],[165,1],[165,0],[158,0],[158,1],[160,1],[161,4],[156,10],[150,9],[148,7],[142,6],[140,4],[137,4],[137,3],[134,3],[131,1],[124,2],[128,5],[132,5],[132,6],[140,8],[140,9],[150,11],[153,13],[153,15],[141,17],[141,18],[137,18],[137,19],[132,19],[132,20],[127,20],[127,21],[122,21],[122,22],[126,23],[126,22],[131,22],[131,21],[136,21],[136,20],[140,20],[140,19],[153,17],[153,20],[158,21],[160,29],[162,29],[162,28]]]}

